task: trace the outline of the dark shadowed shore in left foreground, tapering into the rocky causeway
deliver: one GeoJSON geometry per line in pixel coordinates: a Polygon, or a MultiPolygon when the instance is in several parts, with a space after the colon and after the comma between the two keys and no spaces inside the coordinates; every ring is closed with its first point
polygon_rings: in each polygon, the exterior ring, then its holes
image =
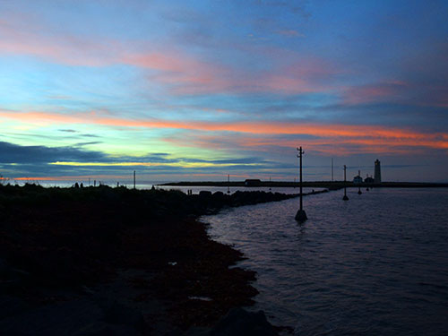
{"type": "Polygon", "coordinates": [[[238,309],[257,294],[244,255],[198,218],[292,197],[0,185],[0,333],[275,335],[238,309]]]}

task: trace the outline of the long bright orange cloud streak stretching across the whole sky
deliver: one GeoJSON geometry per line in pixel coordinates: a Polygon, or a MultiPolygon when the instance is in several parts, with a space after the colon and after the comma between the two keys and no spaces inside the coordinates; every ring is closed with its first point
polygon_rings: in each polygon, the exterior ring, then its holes
{"type": "MultiPolygon", "coordinates": [[[[111,116],[104,113],[79,113],[73,115],[52,114],[46,112],[13,112],[0,110],[0,117],[13,119],[22,123],[30,124],[86,124],[103,125],[117,127],[137,127],[137,128],[171,128],[187,131],[202,132],[232,132],[237,134],[250,135],[244,142],[239,142],[241,146],[267,146],[284,145],[295,147],[291,141],[275,140],[267,138],[254,138],[254,135],[281,135],[297,134],[313,135],[317,139],[300,140],[315,147],[338,143],[339,145],[363,145],[366,149],[399,147],[426,147],[432,149],[448,149],[448,134],[444,133],[422,133],[409,128],[384,127],[378,125],[329,125],[311,123],[285,123],[285,122],[199,122],[199,121],[172,121],[172,120],[145,120],[145,119],[125,119],[111,116]],[[383,147],[382,147],[383,146],[383,147]]],[[[195,138],[195,135],[192,135],[195,138]]],[[[238,137],[236,137],[237,139],[238,137]]],[[[242,138],[240,138],[242,139],[242,138]]],[[[235,140],[237,141],[237,140],[235,140]]],[[[297,141],[295,141],[296,143],[297,141]]],[[[210,143],[209,143],[210,146],[210,143]]]]}

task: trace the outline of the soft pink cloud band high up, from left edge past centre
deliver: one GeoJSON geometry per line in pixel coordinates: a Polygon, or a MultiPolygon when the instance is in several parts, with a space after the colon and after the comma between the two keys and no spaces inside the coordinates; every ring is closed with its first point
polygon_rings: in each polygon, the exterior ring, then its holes
{"type": "MultiPolygon", "coordinates": [[[[36,56],[63,65],[134,65],[142,70],[151,70],[152,73],[147,74],[149,81],[159,83],[177,95],[315,92],[324,88],[314,79],[329,73],[322,62],[303,59],[287,67],[275,65],[268,72],[250,72],[189,55],[174,46],[54,34],[41,22],[30,20],[29,24],[22,25],[18,21],[15,18],[0,23],[0,54],[36,56]]],[[[276,50],[266,56],[275,60],[276,53],[285,51],[276,50]]]]}

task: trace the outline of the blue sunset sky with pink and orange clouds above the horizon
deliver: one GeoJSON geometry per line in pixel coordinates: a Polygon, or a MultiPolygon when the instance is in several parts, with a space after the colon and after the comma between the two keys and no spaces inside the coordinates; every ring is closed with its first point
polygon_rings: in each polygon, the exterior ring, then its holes
{"type": "Polygon", "coordinates": [[[448,2],[0,0],[0,174],[448,181],[448,2]]]}

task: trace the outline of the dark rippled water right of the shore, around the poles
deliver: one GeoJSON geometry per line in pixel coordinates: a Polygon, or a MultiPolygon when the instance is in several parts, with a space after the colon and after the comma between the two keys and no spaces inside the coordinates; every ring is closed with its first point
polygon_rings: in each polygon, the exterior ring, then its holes
{"type": "Polygon", "coordinates": [[[202,220],[258,272],[254,309],[305,335],[448,334],[448,189],[349,190],[202,220]]]}

